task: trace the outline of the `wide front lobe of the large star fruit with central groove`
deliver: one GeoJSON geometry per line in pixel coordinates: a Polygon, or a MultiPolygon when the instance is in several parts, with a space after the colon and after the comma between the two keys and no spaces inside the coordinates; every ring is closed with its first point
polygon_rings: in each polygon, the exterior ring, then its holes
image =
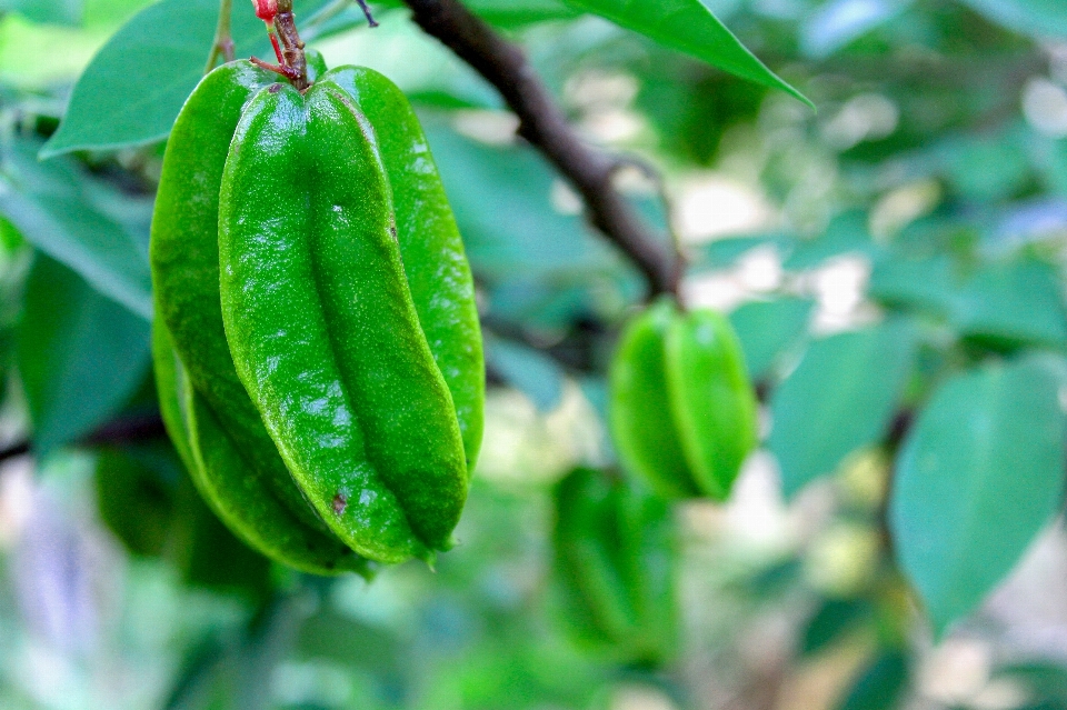
{"type": "Polygon", "coordinates": [[[222,178],[222,314],[297,484],[373,560],[450,547],[463,441],[419,324],[373,132],[331,82],[249,103],[222,178]]]}

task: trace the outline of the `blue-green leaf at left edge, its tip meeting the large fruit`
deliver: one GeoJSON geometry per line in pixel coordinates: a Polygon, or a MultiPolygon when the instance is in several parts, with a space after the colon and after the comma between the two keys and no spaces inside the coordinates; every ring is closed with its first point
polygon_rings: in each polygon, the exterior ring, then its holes
{"type": "Polygon", "coordinates": [[[143,237],[96,203],[87,173],[69,159],[38,162],[38,144],[13,141],[0,176],[0,212],[34,247],[144,319],[152,279],[143,237]]]}

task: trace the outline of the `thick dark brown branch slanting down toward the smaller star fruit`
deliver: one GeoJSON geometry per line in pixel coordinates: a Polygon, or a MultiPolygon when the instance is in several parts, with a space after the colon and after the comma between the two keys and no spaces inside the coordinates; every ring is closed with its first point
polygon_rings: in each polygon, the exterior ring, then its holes
{"type": "Polygon", "coordinates": [[[497,34],[459,0],[405,0],[412,19],[470,64],[519,118],[519,134],[535,146],[578,191],[589,221],[629,257],[651,296],[678,292],[681,259],[657,240],[615,189],[619,161],[581,142],[522,51],[497,34]]]}

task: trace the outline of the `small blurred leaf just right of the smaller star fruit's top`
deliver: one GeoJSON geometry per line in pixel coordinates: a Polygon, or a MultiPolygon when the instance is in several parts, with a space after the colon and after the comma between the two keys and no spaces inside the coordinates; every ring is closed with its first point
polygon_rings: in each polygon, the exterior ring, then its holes
{"type": "Polygon", "coordinates": [[[807,332],[811,307],[811,301],[784,298],[746,303],[730,313],[752,380],[766,377],[778,357],[807,332]]]}

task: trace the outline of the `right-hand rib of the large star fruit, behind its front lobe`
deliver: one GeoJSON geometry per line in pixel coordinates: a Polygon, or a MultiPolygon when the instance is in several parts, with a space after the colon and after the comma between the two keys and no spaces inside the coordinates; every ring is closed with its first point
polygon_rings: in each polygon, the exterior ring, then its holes
{"type": "Polygon", "coordinates": [[[463,242],[418,117],[403,92],[366,67],[325,74],[375,127],[397,213],[397,241],[422,331],[456,406],[467,471],[481,447],[485,362],[463,242]]]}

